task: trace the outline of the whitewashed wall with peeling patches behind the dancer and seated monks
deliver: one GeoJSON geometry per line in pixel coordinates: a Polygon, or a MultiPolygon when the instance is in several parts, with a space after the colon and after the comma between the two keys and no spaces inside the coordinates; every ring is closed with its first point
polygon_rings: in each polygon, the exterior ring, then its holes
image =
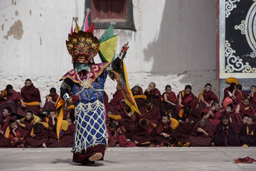
{"type": "MultiPolygon", "coordinates": [[[[41,97],[50,87],[58,89],[58,79],[73,68],[65,47],[71,20],[78,16],[82,26],[84,6],[82,0],[0,1],[0,89],[13,84],[19,90],[26,78],[41,97]]],[[[178,93],[191,84],[198,96],[210,82],[215,90],[215,1],[134,0],[133,6],[137,31],[115,30],[117,53],[129,40],[124,61],[130,87],[156,82],[161,92],[171,84],[178,93]]],[[[102,33],[95,31],[98,38],[102,33]]],[[[115,87],[107,79],[110,99],[115,87]]]]}

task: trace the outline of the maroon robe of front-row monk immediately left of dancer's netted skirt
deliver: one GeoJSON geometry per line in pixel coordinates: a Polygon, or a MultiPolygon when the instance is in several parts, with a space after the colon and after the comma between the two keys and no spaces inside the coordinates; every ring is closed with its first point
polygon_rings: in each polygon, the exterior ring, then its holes
{"type": "Polygon", "coordinates": [[[75,125],[68,126],[67,131],[60,132],[60,138],[57,138],[57,134],[54,129],[50,129],[49,135],[49,148],[72,148],[73,147],[73,136],[75,133],[75,125]]]}

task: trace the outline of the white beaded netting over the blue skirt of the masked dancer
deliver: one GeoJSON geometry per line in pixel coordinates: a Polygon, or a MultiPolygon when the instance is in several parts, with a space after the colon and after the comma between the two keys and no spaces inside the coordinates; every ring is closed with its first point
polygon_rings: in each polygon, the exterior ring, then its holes
{"type": "Polygon", "coordinates": [[[105,125],[104,104],[98,99],[75,107],[75,135],[73,152],[82,153],[88,147],[98,144],[107,145],[108,135],[105,125]]]}

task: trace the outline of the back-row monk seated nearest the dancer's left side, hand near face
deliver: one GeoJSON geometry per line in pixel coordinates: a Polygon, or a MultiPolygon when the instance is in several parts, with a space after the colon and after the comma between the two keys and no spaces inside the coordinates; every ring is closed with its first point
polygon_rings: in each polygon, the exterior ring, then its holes
{"type": "Polygon", "coordinates": [[[43,105],[41,113],[43,111],[55,111],[55,104],[58,97],[59,95],[56,93],[56,89],[54,87],[50,88],[50,94],[46,96],[46,104],[43,105]]]}

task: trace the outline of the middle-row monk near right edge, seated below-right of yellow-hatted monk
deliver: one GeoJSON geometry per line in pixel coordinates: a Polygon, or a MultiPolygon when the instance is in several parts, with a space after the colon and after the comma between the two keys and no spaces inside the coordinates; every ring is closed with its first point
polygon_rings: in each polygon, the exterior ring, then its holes
{"type": "Polygon", "coordinates": [[[247,114],[248,116],[255,118],[255,110],[250,106],[250,99],[247,97],[238,104],[235,109],[235,115],[241,120],[242,116],[247,114]]]}

